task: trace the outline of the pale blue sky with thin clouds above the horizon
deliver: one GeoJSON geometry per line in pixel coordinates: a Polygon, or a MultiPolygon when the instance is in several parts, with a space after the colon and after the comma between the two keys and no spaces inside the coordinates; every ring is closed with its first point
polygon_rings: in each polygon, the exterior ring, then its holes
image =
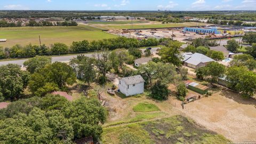
{"type": "Polygon", "coordinates": [[[256,10],[256,0],[0,0],[0,10],[256,10]]]}

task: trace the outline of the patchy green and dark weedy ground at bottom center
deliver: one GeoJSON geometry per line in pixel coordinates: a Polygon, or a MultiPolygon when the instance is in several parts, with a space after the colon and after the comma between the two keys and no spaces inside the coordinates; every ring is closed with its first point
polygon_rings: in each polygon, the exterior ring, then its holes
{"type": "Polygon", "coordinates": [[[103,143],[119,143],[119,136],[128,133],[139,143],[228,143],[220,134],[206,130],[191,119],[172,116],[155,121],[138,122],[103,129],[103,143]]]}

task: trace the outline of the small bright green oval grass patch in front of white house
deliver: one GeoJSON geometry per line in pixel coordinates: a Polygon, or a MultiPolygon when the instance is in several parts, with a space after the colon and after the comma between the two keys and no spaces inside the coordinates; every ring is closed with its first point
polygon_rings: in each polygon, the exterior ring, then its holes
{"type": "Polygon", "coordinates": [[[134,106],[132,110],[138,112],[149,112],[158,111],[160,109],[152,103],[139,103],[138,105],[134,106]]]}

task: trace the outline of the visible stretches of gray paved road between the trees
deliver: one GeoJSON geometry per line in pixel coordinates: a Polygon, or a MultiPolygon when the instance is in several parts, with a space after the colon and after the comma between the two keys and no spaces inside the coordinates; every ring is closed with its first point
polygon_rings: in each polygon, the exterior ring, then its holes
{"type": "MultiPolygon", "coordinates": [[[[157,49],[160,49],[160,47],[152,48],[151,53],[156,53],[157,49]]],[[[142,52],[144,52],[146,49],[141,49],[141,50],[142,50],[142,52]]],[[[95,54],[96,53],[94,53],[94,54],[84,54],[84,55],[87,56],[87,57],[92,57],[95,54]]],[[[79,54],[77,54],[77,55],[79,55],[79,54]]],[[[52,57],[52,62],[56,62],[56,61],[59,61],[59,62],[69,62],[71,59],[76,58],[77,55],[66,55],[66,56],[60,56],[60,57],[52,57]]],[[[10,64],[10,63],[18,64],[18,65],[22,66],[23,63],[26,60],[28,60],[28,59],[12,60],[12,61],[0,61],[0,66],[7,65],[7,64],[10,64]]]]}

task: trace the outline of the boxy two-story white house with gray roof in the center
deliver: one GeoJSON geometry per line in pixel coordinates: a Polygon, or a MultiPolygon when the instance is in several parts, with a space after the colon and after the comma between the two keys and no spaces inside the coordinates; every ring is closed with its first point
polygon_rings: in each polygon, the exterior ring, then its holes
{"type": "Polygon", "coordinates": [[[144,79],[141,75],[124,77],[119,79],[119,91],[126,95],[137,95],[144,93],[144,79]]]}

